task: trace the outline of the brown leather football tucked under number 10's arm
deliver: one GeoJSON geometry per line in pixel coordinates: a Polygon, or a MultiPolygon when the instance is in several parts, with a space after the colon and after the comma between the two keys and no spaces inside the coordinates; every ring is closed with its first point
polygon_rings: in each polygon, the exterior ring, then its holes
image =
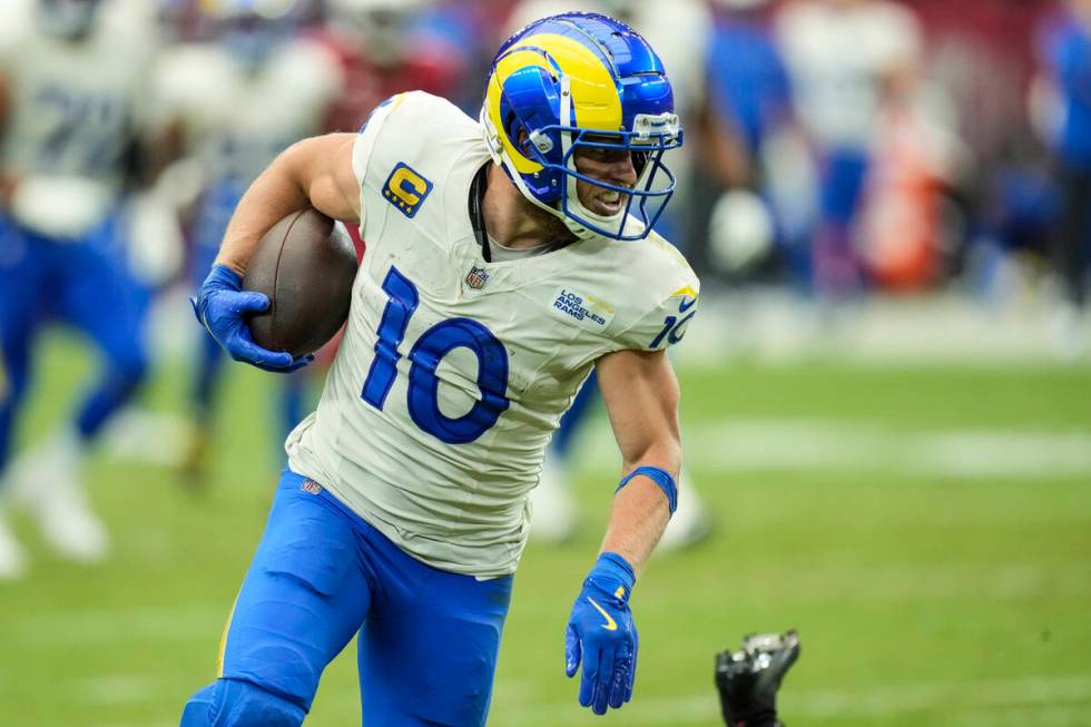
{"type": "Polygon", "coordinates": [[[348,317],[357,261],[348,233],[316,209],[292,213],[267,232],[243,288],[269,307],[249,318],[254,342],[293,356],[312,354],[348,317]]]}

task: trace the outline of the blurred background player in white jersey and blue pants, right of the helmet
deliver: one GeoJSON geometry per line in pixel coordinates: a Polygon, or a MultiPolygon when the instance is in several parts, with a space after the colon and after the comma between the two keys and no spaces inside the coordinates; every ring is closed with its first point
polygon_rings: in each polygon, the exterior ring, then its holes
{"type": "Polygon", "coordinates": [[[778,42],[818,166],[814,288],[837,302],[864,285],[856,226],[883,111],[912,97],[920,31],[891,0],[792,0],[779,11],[778,42]]]}

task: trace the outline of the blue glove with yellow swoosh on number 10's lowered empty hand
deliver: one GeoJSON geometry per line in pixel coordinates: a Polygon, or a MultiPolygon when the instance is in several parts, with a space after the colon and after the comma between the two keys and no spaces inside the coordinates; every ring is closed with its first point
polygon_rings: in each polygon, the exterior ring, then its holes
{"type": "Polygon", "coordinates": [[[632,698],[637,676],[637,627],[629,610],[636,576],[617,553],[599,556],[576,598],[564,633],[564,674],[569,677],[583,661],[580,705],[605,715],[632,698]]]}

